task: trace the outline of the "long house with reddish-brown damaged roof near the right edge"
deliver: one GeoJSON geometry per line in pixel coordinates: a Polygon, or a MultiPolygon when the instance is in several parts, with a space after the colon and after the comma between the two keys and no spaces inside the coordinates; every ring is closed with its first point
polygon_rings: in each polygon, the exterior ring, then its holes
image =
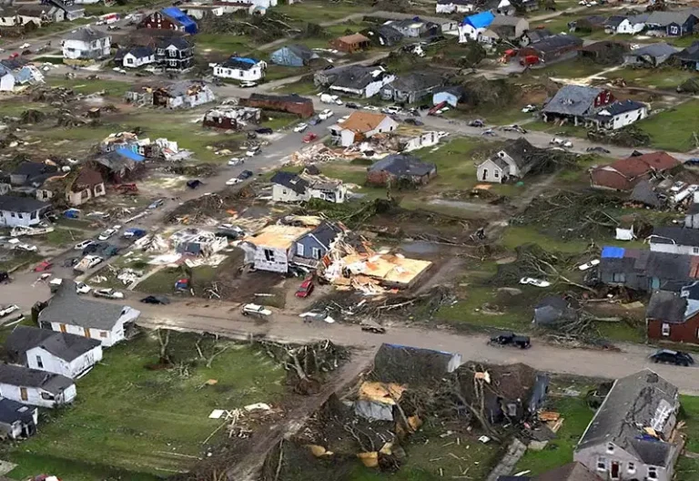
{"type": "Polygon", "coordinates": [[[669,172],[681,165],[667,152],[650,152],[640,156],[615,160],[590,171],[593,188],[631,190],[642,180],[669,172]]]}

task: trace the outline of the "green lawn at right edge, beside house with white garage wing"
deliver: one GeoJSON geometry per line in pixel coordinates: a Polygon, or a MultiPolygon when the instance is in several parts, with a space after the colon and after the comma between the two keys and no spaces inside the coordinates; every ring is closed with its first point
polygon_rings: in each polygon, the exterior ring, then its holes
{"type": "Polygon", "coordinates": [[[693,138],[697,117],[699,100],[691,100],[635,125],[650,134],[654,148],[684,152],[697,147],[693,138]]]}

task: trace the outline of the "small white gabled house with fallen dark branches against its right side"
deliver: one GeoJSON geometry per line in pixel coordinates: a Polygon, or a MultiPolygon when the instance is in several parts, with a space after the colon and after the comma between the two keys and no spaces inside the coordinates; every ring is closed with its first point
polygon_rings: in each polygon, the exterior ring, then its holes
{"type": "Polygon", "coordinates": [[[481,182],[503,183],[512,179],[522,179],[540,164],[542,148],[536,148],[526,138],[508,141],[501,150],[485,159],[476,169],[476,179],[481,182]]]}

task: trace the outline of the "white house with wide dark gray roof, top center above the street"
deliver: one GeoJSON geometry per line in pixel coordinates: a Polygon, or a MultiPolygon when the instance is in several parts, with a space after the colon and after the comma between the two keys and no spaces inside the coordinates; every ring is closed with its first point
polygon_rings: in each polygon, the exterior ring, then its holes
{"type": "Polygon", "coordinates": [[[370,98],[395,78],[383,67],[349,66],[320,70],[314,74],[313,82],[342,96],[370,98]]]}

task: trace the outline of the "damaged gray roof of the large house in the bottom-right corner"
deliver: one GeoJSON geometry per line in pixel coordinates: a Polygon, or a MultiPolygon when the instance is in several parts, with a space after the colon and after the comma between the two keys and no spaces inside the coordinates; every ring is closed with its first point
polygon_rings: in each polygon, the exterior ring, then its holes
{"type": "Polygon", "coordinates": [[[594,414],[576,450],[613,443],[644,463],[667,466],[668,444],[643,441],[643,427],[663,431],[674,412],[677,388],[650,369],[618,379],[594,414]]]}

